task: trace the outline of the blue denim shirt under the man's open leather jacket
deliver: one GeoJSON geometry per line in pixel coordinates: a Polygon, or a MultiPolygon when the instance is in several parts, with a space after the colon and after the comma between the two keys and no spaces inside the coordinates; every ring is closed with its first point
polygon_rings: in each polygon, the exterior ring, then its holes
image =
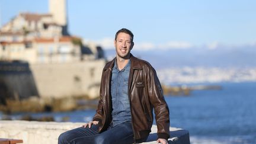
{"type": "Polygon", "coordinates": [[[112,118],[113,126],[131,121],[130,103],[128,98],[128,79],[130,73],[130,60],[119,71],[117,62],[114,62],[111,78],[112,118]]]}

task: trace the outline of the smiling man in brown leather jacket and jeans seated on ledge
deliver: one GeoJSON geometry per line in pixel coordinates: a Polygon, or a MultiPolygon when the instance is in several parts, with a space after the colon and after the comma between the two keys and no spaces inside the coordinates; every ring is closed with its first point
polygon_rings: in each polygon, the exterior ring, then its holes
{"type": "Polygon", "coordinates": [[[168,143],[169,109],[155,69],[134,57],[133,33],[117,31],[116,57],[102,73],[100,100],[92,121],[59,136],[60,143],[140,143],[151,132],[153,108],[158,143],[168,143]]]}

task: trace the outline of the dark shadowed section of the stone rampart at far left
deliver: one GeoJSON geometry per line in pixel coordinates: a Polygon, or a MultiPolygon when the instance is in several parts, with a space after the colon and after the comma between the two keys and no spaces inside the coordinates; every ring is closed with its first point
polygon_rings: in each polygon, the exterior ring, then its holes
{"type": "Polygon", "coordinates": [[[27,62],[0,62],[0,104],[7,99],[39,97],[33,73],[27,62]]]}

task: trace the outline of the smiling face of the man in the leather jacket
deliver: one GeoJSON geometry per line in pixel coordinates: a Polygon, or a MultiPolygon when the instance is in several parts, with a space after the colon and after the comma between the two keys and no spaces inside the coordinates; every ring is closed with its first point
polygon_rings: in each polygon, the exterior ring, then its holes
{"type": "Polygon", "coordinates": [[[119,33],[117,39],[114,40],[114,46],[116,47],[117,57],[129,59],[130,50],[133,48],[132,37],[126,33],[119,33]]]}

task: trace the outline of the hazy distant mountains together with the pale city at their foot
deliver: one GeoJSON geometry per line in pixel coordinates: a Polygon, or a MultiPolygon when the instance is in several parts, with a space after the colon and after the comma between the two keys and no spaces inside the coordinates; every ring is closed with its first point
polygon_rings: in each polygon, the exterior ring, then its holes
{"type": "MultiPolygon", "coordinates": [[[[108,60],[115,53],[114,49],[105,50],[108,60]]],[[[256,47],[133,49],[132,53],[150,62],[167,85],[256,81],[256,47]]]]}

